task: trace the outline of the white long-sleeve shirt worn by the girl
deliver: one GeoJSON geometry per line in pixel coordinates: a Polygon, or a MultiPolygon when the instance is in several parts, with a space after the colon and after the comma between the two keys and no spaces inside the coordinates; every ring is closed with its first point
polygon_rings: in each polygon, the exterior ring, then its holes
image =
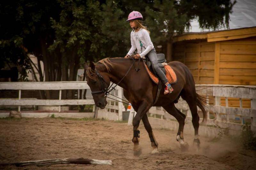
{"type": "Polygon", "coordinates": [[[148,31],[143,28],[141,28],[138,32],[131,32],[131,44],[132,47],[127,53],[128,55],[132,55],[132,53],[137,48],[140,57],[144,57],[148,54],[148,52],[150,52],[154,48],[148,31]]]}

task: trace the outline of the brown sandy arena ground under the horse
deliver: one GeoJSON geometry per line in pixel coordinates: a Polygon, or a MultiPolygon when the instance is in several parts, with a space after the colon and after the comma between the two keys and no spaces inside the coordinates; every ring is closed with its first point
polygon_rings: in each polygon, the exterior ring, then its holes
{"type": "Polygon", "coordinates": [[[0,162],[55,158],[112,160],[113,165],[0,166],[0,169],[255,169],[256,152],[244,151],[235,141],[210,142],[200,137],[195,151],[193,135],[185,134],[189,150],[182,152],[176,131],[154,129],[159,154],[150,154],[151,143],[140,126],[142,154],[133,156],[132,127],[106,120],[60,118],[0,119],[0,162]]]}

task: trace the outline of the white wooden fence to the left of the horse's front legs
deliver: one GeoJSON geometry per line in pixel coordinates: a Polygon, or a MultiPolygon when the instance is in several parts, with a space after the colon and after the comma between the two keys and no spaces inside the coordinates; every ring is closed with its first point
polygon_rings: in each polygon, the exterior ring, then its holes
{"type": "MultiPolygon", "coordinates": [[[[37,106],[49,106],[49,105],[84,105],[84,104],[94,104],[93,99],[72,99],[63,100],[61,99],[61,91],[68,89],[77,89],[78,96],[80,89],[90,89],[85,81],[54,81],[54,82],[1,82],[0,90],[19,90],[19,96],[16,99],[1,98],[0,105],[15,105],[18,106],[18,111],[20,111],[20,106],[26,105],[37,105],[37,106]],[[59,90],[59,100],[40,100],[40,99],[22,99],[21,90],[59,90]]],[[[119,97],[122,97],[122,89],[117,87],[116,90],[111,92],[119,97]]],[[[83,96],[83,95],[82,95],[83,96]]],[[[115,97],[113,97],[115,98],[115,97]]],[[[113,100],[108,99],[108,105],[104,110],[98,110],[99,117],[101,112],[104,114],[111,114],[117,112],[117,120],[122,120],[122,107],[123,104],[118,104],[117,102],[113,104],[113,100]]],[[[116,120],[116,117],[115,117],[116,120]]]]}

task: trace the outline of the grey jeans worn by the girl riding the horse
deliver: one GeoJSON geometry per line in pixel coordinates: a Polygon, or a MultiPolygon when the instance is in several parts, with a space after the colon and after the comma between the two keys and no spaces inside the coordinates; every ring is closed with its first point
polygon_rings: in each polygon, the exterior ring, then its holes
{"type": "Polygon", "coordinates": [[[164,72],[157,64],[157,57],[156,57],[156,50],[153,48],[150,52],[148,52],[147,57],[151,61],[152,67],[155,70],[156,74],[159,76],[159,78],[162,80],[162,82],[165,84],[168,82],[164,72]]]}

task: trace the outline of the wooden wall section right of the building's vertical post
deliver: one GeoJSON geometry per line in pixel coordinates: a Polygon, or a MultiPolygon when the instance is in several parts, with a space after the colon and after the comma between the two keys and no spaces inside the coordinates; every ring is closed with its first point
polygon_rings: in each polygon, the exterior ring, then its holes
{"type": "Polygon", "coordinates": [[[216,44],[220,44],[220,63],[215,84],[256,85],[256,37],[216,44]]]}

